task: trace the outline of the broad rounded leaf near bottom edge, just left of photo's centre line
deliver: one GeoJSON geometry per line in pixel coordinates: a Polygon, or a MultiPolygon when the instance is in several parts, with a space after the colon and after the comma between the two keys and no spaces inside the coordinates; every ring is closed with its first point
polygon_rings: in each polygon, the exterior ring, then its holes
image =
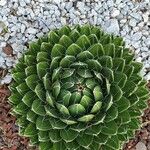
{"type": "Polygon", "coordinates": [[[60,136],[67,143],[74,141],[78,137],[78,134],[79,133],[77,131],[71,130],[70,128],[65,130],[60,130],[60,136]]]}

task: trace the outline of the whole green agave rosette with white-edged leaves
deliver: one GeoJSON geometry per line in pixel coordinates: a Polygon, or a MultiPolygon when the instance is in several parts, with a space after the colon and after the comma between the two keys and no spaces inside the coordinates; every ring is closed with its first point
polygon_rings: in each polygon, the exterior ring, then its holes
{"type": "Polygon", "coordinates": [[[141,68],[121,37],[98,27],[50,31],[12,70],[20,134],[41,150],[120,150],[147,106],[141,68]]]}

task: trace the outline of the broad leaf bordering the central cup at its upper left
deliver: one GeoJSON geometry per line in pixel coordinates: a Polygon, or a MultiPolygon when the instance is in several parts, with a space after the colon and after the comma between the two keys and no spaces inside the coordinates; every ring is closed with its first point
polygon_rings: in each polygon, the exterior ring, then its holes
{"type": "Polygon", "coordinates": [[[68,68],[75,60],[74,56],[67,55],[60,61],[60,66],[62,68],[68,68]]]}

